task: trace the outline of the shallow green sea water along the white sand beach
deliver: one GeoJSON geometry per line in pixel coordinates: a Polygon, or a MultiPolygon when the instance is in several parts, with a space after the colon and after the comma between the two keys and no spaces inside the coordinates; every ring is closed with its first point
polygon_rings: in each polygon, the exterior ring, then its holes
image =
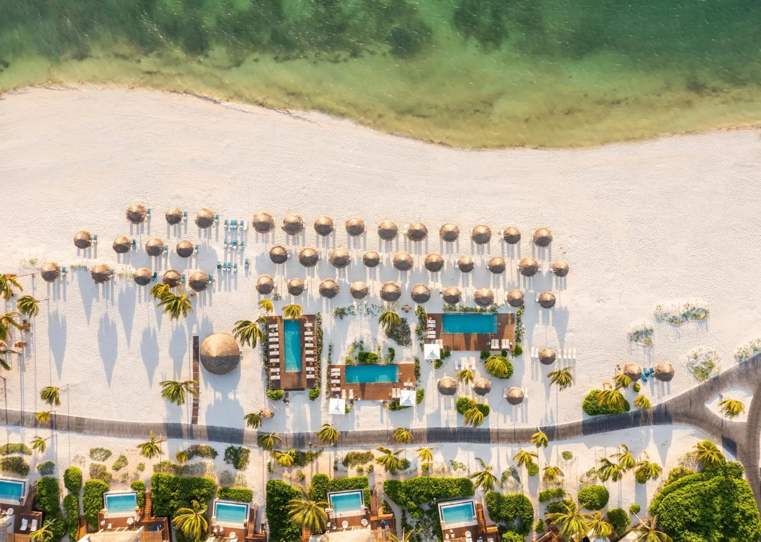
{"type": "Polygon", "coordinates": [[[749,0],[0,2],[0,90],[144,84],[462,146],[587,145],[761,118],[749,0]]]}

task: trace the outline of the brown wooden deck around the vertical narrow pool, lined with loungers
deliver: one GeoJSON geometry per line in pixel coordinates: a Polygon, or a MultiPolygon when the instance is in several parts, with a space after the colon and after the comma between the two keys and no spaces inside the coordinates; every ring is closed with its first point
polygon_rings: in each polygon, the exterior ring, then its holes
{"type": "MultiPolygon", "coordinates": [[[[280,371],[280,378],[276,380],[272,380],[272,373],[270,373],[269,389],[271,390],[301,391],[317,385],[317,380],[314,378],[315,372],[319,370],[319,365],[317,363],[319,361],[317,359],[317,318],[314,316],[314,314],[304,314],[301,316],[301,318],[298,319],[298,322],[301,330],[301,371],[285,371],[285,334],[283,333],[283,317],[267,317],[267,348],[269,349],[270,344],[269,326],[276,325],[278,327],[277,345],[280,352],[276,356],[278,358],[278,362],[275,363],[270,361],[269,368],[267,369],[270,371],[273,368],[277,368],[280,371]],[[305,333],[307,331],[312,333],[311,337],[313,338],[313,342],[310,343],[311,346],[307,346],[309,343],[305,341],[307,338],[305,333]],[[314,353],[307,354],[307,350],[311,350],[314,353]],[[313,358],[314,361],[307,362],[307,357],[313,358]],[[314,368],[314,372],[307,372],[307,367],[314,368]]],[[[272,357],[275,356],[271,356],[271,358],[272,357]]]]}

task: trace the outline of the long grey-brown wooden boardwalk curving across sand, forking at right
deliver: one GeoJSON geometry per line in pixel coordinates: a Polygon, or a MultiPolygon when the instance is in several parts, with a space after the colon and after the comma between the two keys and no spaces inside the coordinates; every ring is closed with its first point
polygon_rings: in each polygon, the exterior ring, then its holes
{"type": "MultiPolygon", "coordinates": [[[[736,454],[745,467],[745,476],[761,509],[761,470],[759,470],[759,436],[761,436],[761,354],[727,369],[692,390],[665,400],[649,410],[635,410],[616,416],[597,416],[559,426],[543,426],[550,440],[579,438],[597,433],[643,426],[693,426],[715,442],[736,454]],[[708,410],[705,403],[728,387],[743,387],[753,393],[747,422],[732,422],[708,410]]],[[[153,431],[163,438],[195,439],[256,446],[259,433],[233,427],[202,426],[169,422],[119,422],[110,419],[82,418],[54,413],[49,423],[40,423],[33,412],[0,410],[0,424],[42,427],[57,431],[148,438],[153,431]]],[[[473,429],[470,427],[428,427],[412,429],[416,445],[434,442],[474,442],[483,444],[521,444],[529,442],[533,427],[473,429]]],[[[393,444],[393,429],[343,431],[339,445],[379,446],[393,444]]],[[[315,432],[279,433],[282,448],[304,448],[319,442],[315,432]]]]}

